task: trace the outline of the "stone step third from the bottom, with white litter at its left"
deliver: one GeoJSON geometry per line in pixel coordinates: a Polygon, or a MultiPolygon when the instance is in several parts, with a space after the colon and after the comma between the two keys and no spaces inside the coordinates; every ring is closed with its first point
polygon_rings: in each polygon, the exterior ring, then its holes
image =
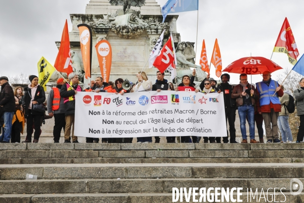
{"type": "Polygon", "coordinates": [[[2,164],[0,180],[108,178],[304,178],[303,163],[2,164]]]}

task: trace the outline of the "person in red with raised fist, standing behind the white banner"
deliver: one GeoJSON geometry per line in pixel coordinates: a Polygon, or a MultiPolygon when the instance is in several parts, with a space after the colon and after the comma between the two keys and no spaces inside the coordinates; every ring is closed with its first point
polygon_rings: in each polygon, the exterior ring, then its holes
{"type": "MultiPolygon", "coordinates": [[[[195,76],[195,70],[193,70],[192,77],[195,76]]],[[[196,89],[194,83],[190,82],[190,78],[188,75],[182,77],[181,83],[178,87],[175,88],[175,91],[195,91],[196,93],[199,92],[199,89],[196,89]]],[[[193,143],[199,143],[199,139],[197,136],[192,136],[193,143]]],[[[181,136],[180,137],[181,143],[192,143],[190,136],[181,136]]]]}

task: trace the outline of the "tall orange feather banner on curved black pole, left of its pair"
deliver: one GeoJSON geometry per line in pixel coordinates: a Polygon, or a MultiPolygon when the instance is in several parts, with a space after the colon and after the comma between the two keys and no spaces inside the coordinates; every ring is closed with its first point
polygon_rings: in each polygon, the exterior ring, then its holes
{"type": "Polygon", "coordinates": [[[87,24],[77,25],[80,36],[81,54],[84,62],[85,77],[91,78],[91,61],[92,61],[92,30],[87,24]]]}

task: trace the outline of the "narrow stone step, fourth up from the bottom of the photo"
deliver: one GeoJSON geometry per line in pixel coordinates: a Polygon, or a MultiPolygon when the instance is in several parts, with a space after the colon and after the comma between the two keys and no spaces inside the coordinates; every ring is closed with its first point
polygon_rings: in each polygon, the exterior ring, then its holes
{"type": "Polygon", "coordinates": [[[48,163],[303,163],[304,158],[0,158],[0,164],[48,163]]]}

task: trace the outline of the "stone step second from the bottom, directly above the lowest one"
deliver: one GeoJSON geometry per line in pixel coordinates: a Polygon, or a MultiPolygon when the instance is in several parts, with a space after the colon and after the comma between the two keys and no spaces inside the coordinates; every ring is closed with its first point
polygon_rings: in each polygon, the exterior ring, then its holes
{"type": "MultiPolygon", "coordinates": [[[[181,187],[219,187],[247,188],[261,191],[265,188],[282,188],[290,191],[291,179],[78,179],[78,180],[1,180],[0,194],[36,194],[36,193],[172,193],[172,188],[181,187]]],[[[299,179],[304,182],[304,179],[299,179]]]]}

